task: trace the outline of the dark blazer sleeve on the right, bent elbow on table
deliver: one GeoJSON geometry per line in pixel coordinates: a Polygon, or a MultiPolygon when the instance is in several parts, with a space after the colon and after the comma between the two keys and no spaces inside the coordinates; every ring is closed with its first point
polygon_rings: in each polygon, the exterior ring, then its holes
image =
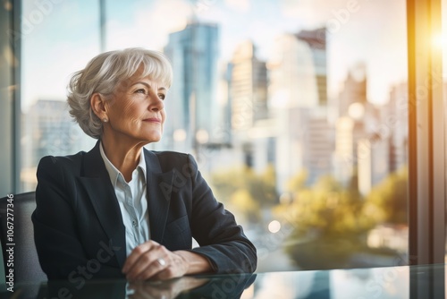
{"type": "Polygon", "coordinates": [[[188,155],[192,179],[191,233],[200,247],[193,252],[205,255],[215,273],[252,273],[257,267],[256,248],[236,223],[231,212],[215,196],[188,155]]]}

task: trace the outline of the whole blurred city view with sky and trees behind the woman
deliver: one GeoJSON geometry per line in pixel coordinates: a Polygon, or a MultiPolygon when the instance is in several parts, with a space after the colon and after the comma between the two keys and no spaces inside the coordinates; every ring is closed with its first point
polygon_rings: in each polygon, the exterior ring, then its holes
{"type": "Polygon", "coordinates": [[[40,158],[95,142],[68,115],[70,73],[103,50],[155,48],[174,79],[148,149],[197,158],[259,271],[408,262],[405,1],[37,3],[23,7],[23,191],[40,158]]]}

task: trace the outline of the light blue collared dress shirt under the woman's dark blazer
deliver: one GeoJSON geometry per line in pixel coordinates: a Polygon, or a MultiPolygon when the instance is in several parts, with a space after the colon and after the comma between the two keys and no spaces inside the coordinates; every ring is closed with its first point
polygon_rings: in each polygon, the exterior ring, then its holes
{"type": "Polygon", "coordinates": [[[139,165],[132,172],[131,182],[127,183],[122,173],[105,156],[102,143],[99,145],[99,151],[120,205],[122,222],[126,227],[126,253],[129,256],[136,246],[149,240],[147,172],[144,153],[141,151],[139,165]]]}

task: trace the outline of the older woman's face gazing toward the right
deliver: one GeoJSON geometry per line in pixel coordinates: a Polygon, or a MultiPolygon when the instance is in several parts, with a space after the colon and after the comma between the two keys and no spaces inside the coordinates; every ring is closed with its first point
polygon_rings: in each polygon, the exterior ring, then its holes
{"type": "Polygon", "coordinates": [[[123,141],[160,141],[166,92],[161,82],[138,75],[122,82],[106,104],[109,122],[105,130],[123,141]]]}

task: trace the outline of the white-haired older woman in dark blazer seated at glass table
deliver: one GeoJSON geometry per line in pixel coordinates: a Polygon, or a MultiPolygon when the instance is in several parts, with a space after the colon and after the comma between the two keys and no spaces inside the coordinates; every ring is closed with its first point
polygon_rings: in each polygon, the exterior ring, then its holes
{"type": "Polygon", "coordinates": [[[143,148],[162,137],[171,81],[163,54],[142,48],[100,54],[72,76],[70,114],[98,141],[38,165],[32,221],[49,279],[82,286],[256,269],[255,247],[194,158],[143,148]]]}

